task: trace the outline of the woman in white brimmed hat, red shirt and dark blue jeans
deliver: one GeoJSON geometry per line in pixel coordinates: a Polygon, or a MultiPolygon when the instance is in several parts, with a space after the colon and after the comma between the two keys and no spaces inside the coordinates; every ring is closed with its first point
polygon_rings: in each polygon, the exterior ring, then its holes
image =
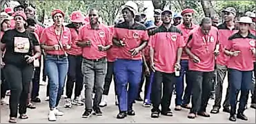
{"type": "Polygon", "coordinates": [[[230,121],[236,121],[236,118],[247,121],[244,115],[248,93],[253,78],[253,58],[255,56],[255,39],[250,33],[250,24],[252,19],[243,16],[239,19],[239,32],[228,38],[228,46],[224,53],[230,55],[228,60],[228,69],[230,71],[230,121]],[[241,90],[239,99],[239,108],[237,106],[237,94],[241,90]],[[237,117],[235,116],[237,111],[237,117]]]}

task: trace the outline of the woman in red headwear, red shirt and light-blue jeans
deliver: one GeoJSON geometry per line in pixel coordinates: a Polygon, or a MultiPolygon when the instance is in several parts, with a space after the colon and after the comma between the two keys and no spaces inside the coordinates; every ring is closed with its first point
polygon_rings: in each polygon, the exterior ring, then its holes
{"type": "Polygon", "coordinates": [[[44,60],[50,84],[48,120],[56,121],[56,116],[63,115],[63,112],[57,110],[57,106],[68,73],[68,54],[66,50],[70,49],[71,34],[70,29],[63,26],[64,12],[58,9],[52,11],[52,18],[55,24],[43,30],[40,41],[41,48],[46,51],[44,60]]]}

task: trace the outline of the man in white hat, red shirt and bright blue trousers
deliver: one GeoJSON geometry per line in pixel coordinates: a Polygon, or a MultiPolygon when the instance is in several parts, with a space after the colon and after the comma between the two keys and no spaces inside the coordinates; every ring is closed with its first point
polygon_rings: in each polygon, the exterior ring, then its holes
{"type": "Polygon", "coordinates": [[[113,43],[119,47],[117,60],[114,63],[119,101],[117,119],[124,119],[127,114],[130,116],[135,115],[135,111],[132,109],[132,102],[137,97],[141,79],[141,50],[146,47],[149,39],[146,27],[135,21],[137,11],[137,4],[133,1],[128,1],[121,8],[124,23],[119,23],[114,28],[113,43]],[[129,85],[128,90],[127,85],[129,85]]]}

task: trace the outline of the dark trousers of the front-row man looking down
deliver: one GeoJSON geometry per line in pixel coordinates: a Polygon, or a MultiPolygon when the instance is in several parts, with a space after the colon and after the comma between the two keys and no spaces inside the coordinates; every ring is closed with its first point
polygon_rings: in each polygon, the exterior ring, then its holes
{"type": "Polygon", "coordinates": [[[192,108],[190,109],[190,113],[206,112],[213,85],[214,71],[190,71],[190,75],[193,81],[192,108]]]}

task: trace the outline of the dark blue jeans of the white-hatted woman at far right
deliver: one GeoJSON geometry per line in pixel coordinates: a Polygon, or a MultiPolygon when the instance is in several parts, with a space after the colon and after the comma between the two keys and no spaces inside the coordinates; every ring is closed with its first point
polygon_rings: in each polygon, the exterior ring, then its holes
{"type": "Polygon", "coordinates": [[[238,113],[243,113],[248,101],[248,93],[252,84],[253,71],[239,71],[229,69],[230,72],[230,114],[236,113],[237,94],[241,90],[238,113]]]}

